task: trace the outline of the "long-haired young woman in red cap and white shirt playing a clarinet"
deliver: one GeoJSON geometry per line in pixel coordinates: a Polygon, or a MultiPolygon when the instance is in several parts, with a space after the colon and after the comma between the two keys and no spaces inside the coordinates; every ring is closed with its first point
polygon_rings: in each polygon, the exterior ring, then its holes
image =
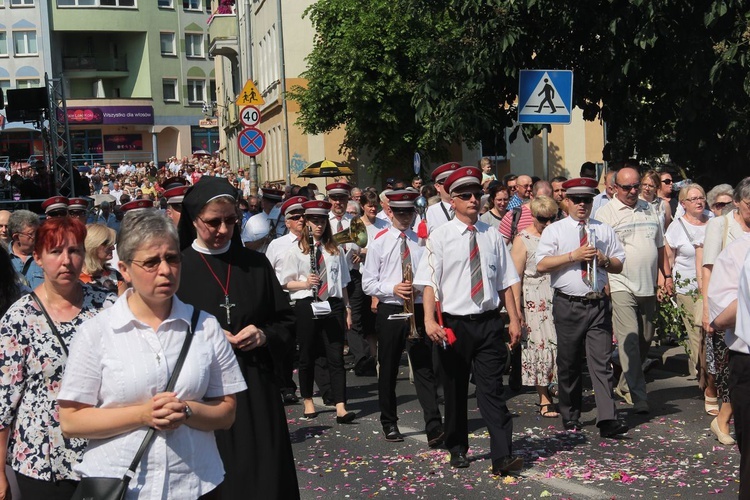
{"type": "Polygon", "coordinates": [[[331,396],[336,404],[336,422],[347,424],[354,412],[346,409],[344,332],[351,327],[352,312],[346,285],[349,266],[344,251],[333,240],[328,213],[331,204],[311,200],[302,204],[305,228],[297,245],[289,249],[281,271],[281,283],[295,300],[299,342],[299,387],[303,416],[318,416],[313,404],[313,374],[318,345],[328,360],[331,396]],[[312,243],[312,244],[311,244],[312,243]],[[327,307],[326,307],[327,306],[327,307]]]}

